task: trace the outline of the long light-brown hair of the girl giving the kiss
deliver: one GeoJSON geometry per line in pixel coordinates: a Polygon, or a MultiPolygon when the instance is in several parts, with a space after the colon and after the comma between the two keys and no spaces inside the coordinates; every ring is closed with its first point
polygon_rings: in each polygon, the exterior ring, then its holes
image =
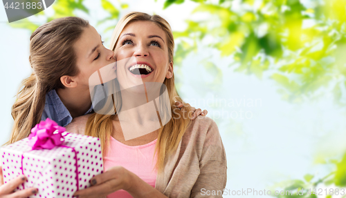
{"type": "Polygon", "coordinates": [[[79,17],[64,17],[39,26],[31,34],[29,62],[33,73],[17,92],[11,112],[15,123],[7,143],[28,137],[41,120],[46,94],[64,88],[60,77],[78,75],[73,44],[87,26],[89,22],[79,17]]]}

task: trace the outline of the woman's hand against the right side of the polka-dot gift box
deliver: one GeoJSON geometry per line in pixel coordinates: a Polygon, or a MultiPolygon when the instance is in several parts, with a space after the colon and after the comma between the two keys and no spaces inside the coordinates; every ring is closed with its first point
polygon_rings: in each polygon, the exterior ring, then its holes
{"type": "Polygon", "coordinates": [[[129,190],[131,188],[131,174],[122,166],[114,166],[106,172],[90,179],[91,187],[78,190],[73,196],[84,197],[106,197],[117,190],[129,190]]]}

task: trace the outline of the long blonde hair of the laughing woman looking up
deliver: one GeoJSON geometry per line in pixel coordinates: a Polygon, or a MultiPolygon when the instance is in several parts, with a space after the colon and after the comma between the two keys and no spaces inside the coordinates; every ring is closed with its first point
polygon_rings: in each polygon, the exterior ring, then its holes
{"type": "MultiPolygon", "coordinates": [[[[122,17],[116,28],[113,31],[111,37],[111,50],[115,50],[116,44],[122,30],[129,23],[134,21],[152,21],[167,35],[167,47],[168,47],[168,58],[169,61],[173,63],[174,55],[174,38],[170,24],[158,15],[150,15],[143,12],[130,12],[129,14],[122,17]]],[[[168,121],[165,126],[161,127],[158,132],[158,139],[156,141],[155,154],[157,154],[156,168],[158,171],[163,171],[165,166],[165,157],[172,154],[178,148],[179,142],[183,137],[185,130],[190,124],[190,106],[184,106],[184,111],[176,108],[175,101],[180,101],[183,103],[183,100],[179,97],[178,92],[174,85],[174,74],[172,78],[165,79],[163,81],[167,87],[167,92],[170,98],[170,107],[172,111],[172,118],[168,121]]],[[[86,123],[86,135],[99,137],[101,139],[103,155],[107,155],[108,148],[108,139],[111,136],[113,129],[112,118],[115,115],[100,115],[94,113],[91,115],[86,123]]]]}

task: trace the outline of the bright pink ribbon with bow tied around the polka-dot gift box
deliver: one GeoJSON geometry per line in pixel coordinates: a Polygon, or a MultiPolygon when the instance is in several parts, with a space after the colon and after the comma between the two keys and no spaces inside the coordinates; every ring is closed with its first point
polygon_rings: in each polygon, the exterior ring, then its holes
{"type": "MultiPolygon", "coordinates": [[[[55,146],[60,146],[63,148],[71,148],[72,151],[75,153],[75,179],[76,179],[76,186],[77,191],[79,190],[79,179],[78,179],[78,157],[77,152],[75,148],[70,146],[62,145],[62,143],[65,141],[64,137],[66,135],[69,135],[69,132],[66,132],[65,135],[62,135],[63,132],[65,132],[66,129],[62,126],[58,126],[57,123],[49,118],[46,119],[46,121],[40,121],[36,124],[34,128],[31,129],[31,134],[29,135],[28,139],[28,145],[31,147],[31,150],[27,151],[33,151],[33,150],[40,150],[40,149],[49,149],[55,148],[55,146]]],[[[23,168],[23,159],[24,159],[24,153],[21,154],[21,173],[24,175],[24,168],[23,168]]],[[[41,175],[42,173],[39,172],[41,175]]],[[[38,180],[39,178],[37,178],[38,180]]],[[[24,183],[21,184],[24,187],[24,183]]]]}

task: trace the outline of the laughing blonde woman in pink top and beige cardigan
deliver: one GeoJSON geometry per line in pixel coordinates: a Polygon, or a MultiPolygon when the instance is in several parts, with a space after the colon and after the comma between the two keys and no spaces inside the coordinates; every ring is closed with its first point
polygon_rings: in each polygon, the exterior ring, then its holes
{"type": "MultiPolygon", "coordinates": [[[[174,39],[170,25],[158,15],[131,12],[120,19],[111,42],[116,58],[126,60],[117,66],[120,89],[136,86],[138,81],[163,83],[167,87],[172,118],[158,130],[130,140],[125,139],[122,128],[122,123],[129,120],[118,114],[94,113],[75,119],[67,126],[69,131],[102,139],[105,170],[91,179],[91,188],[75,195],[203,197],[202,190],[221,192],[217,190],[226,186],[227,164],[215,122],[207,117],[190,121],[186,112],[173,107],[178,94],[174,87],[174,39]],[[140,72],[139,77],[131,72],[138,63],[148,66],[149,73],[140,76],[140,72]],[[152,159],[154,162],[150,163],[152,159]]],[[[124,97],[122,93],[121,97],[124,97]]],[[[151,115],[146,117],[148,120],[141,117],[130,122],[150,123],[151,115]]]]}

